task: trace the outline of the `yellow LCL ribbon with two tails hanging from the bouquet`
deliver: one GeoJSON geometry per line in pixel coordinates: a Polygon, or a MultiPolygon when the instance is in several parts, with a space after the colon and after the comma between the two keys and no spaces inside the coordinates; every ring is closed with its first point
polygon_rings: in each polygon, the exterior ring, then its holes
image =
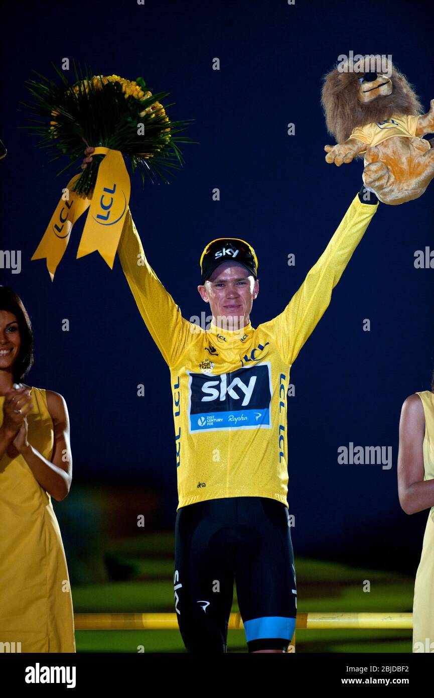
{"type": "Polygon", "coordinates": [[[105,155],[100,163],[93,193],[85,197],[71,191],[81,174],[68,182],[32,260],[47,259],[51,280],[70,239],[74,223],[89,208],[77,259],[98,251],[110,269],[121,238],[128,203],[130,177],[121,151],[97,147],[92,155],[105,155]]]}

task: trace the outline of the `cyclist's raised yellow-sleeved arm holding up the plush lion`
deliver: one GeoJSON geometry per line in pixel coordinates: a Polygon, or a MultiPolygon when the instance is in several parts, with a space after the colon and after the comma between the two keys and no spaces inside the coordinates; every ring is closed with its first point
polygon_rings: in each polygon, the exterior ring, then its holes
{"type": "Polygon", "coordinates": [[[288,364],[295,361],[306,339],[324,315],[332,290],[371,223],[378,201],[375,194],[368,194],[370,199],[365,201],[366,193],[362,187],[320,259],[310,269],[285,310],[262,325],[275,334],[277,346],[288,364]]]}

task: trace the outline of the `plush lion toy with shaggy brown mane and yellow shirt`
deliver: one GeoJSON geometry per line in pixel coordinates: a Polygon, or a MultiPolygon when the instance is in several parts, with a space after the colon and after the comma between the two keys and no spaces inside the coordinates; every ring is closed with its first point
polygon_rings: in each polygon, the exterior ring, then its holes
{"type": "MultiPolygon", "coordinates": [[[[342,165],[364,155],[364,185],[384,204],[421,196],[434,177],[434,99],[423,107],[405,75],[389,59],[383,73],[360,73],[347,61],[324,75],[322,106],[337,145],[326,145],[326,162],[342,165]]],[[[370,66],[368,66],[370,67],[370,66]]]]}

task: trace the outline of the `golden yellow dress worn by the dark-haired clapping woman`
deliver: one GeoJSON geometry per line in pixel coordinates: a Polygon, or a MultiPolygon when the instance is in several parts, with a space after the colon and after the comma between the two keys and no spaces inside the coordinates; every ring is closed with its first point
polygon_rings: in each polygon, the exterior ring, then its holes
{"type": "MultiPolygon", "coordinates": [[[[32,387],[31,397],[28,440],[50,461],[54,431],[45,389],[32,387]]],[[[59,523],[21,454],[0,459],[0,532],[0,652],[75,652],[59,523]]]]}

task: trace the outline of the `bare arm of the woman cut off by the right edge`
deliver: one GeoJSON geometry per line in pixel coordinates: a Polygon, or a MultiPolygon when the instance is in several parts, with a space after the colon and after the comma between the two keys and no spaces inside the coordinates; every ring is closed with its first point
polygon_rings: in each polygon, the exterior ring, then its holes
{"type": "Polygon", "coordinates": [[[398,497],[406,514],[434,507],[434,480],[425,480],[425,413],[417,394],[405,399],[399,422],[398,497]]]}

